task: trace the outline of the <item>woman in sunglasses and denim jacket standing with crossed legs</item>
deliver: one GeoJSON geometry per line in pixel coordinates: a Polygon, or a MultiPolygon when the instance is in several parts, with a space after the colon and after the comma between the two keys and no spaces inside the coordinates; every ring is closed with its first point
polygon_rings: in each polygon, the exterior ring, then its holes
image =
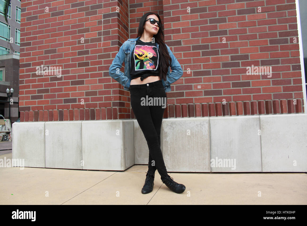
{"type": "Polygon", "coordinates": [[[138,26],[138,38],[128,39],[120,47],[109,69],[116,81],[130,90],[130,103],[133,113],[147,141],[149,149],[148,172],[142,194],[153,190],[156,169],[162,182],[172,191],[182,193],[185,185],[176,183],[167,174],[160,149],[160,131],[166,105],[166,92],[170,84],[177,81],[183,70],[176,57],[164,42],[161,19],[158,14],[149,12],[142,16],[138,26]],[[130,63],[131,60],[131,63],[130,63]],[[125,61],[125,73],[119,69],[125,61]],[[169,66],[172,72],[169,73],[169,66]],[[148,97],[148,99],[147,99],[148,97]],[[144,104],[145,99],[158,100],[144,104]]]}

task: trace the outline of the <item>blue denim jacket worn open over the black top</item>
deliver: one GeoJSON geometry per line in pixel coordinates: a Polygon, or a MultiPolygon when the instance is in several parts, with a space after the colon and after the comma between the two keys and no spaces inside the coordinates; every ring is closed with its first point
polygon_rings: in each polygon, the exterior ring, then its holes
{"type": "MultiPolygon", "coordinates": [[[[118,81],[121,85],[124,86],[124,90],[130,91],[130,68],[131,68],[131,54],[134,50],[135,42],[141,37],[138,38],[129,38],[127,41],[125,41],[122,46],[119,49],[119,52],[116,54],[114,60],[112,61],[112,64],[109,68],[109,75],[114,78],[116,81],[118,81]],[[128,57],[129,54],[129,57],[128,57]],[[120,71],[122,68],[122,63],[125,61],[125,70],[123,73],[120,71]]],[[[166,45],[166,44],[165,44],[166,45]]],[[[159,44],[156,42],[156,46],[159,50],[159,44]]],[[[162,84],[164,86],[165,92],[171,91],[171,86],[173,82],[177,81],[182,75],[183,70],[177,61],[176,57],[172,53],[172,51],[169,49],[169,46],[166,45],[167,50],[169,51],[169,56],[172,58],[172,63],[170,65],[172,72],[168,72],[166,75],[166,81],[161,79],[162,84]]]]}

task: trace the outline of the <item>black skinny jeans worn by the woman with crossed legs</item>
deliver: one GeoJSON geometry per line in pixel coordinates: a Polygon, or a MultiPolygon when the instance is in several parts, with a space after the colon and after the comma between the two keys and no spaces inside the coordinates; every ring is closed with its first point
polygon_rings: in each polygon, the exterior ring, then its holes
{"type": "Polygon", "coordinates": [[[130,85],[131,108],[138,121],[138,125],[142,129],[149,149],[148,172],[153,172],[154,174],[157,169],[161,179],[167,175],[160,148],[160,131],[163,113],[167,106],[166,100],[167,97],[161,80],[141,85],[130,85]],[[150,102],[150,97],[153,99],[152,102],[150,102]],[[159,98],[155,99],[153,97],[159,98]],[[154,160],[153,166],[152,160],[154,160]]]}

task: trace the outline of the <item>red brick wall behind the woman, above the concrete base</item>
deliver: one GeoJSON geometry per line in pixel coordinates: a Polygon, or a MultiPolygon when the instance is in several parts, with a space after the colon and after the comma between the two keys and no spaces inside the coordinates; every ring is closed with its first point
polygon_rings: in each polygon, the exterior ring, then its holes
{"type": "Polygon", "coordinates": [[[21,3],[21,121],[134,118],[108,69],[149,11],[184,70],[165,117],[304,112],[295,0],[41,2],[21,3]],[[36,75],[41,64],[62,76],[36,75]],[[272,66],[272,77],[247,75],[251,65],[272,66]]]}

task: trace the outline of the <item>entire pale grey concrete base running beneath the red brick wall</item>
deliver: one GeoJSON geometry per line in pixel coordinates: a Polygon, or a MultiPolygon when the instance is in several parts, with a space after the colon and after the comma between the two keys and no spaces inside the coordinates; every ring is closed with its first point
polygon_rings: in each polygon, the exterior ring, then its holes
{"type": "MultiPolygon", "coordinates": [[[[307,172],[307,115],[163,119],[168,172],[307,172]]],[[[136,120],[15,122],[12,158],[25,167],[122,171],[148,164],[136,120]]]]}

